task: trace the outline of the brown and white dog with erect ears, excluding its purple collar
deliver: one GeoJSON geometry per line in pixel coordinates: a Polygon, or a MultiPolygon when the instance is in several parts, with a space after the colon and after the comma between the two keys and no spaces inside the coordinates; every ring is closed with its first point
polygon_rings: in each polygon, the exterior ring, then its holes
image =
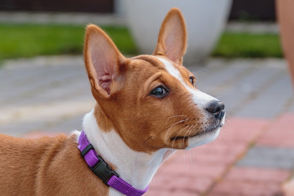
{"type": "MultiPolygon", "coordinates": [[[[96,152],[133,187],[143,190],[176,149],[215,139],[224,105],[201,92],[182,66],[186,26],[173,8],[152,55],[124,57],[95,25],[86,30],[84,60],[97,101],[83,119],[96,152]]],[[[0,195],[109,195],[77,148],[81,132],[54,138],[0,135],[0,195]]]]}

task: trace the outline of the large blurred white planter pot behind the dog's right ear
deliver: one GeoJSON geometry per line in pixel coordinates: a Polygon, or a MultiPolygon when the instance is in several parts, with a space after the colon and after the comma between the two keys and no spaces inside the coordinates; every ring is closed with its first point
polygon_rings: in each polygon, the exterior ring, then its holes
{"type": "Polygon", "coordinates": [[[151,54],[156,46],[161,22],[177,7],[183,13],[188,31],[184,63],[208,57],[227,22],[232,0],[120,0],[120,11],[140,53],[151,54]]]}

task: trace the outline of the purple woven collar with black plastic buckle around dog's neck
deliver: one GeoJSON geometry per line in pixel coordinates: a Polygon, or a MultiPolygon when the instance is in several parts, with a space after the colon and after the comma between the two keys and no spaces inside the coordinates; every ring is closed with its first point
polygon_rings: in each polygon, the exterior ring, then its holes
{"type": "Polygon", "coordinates": [[[145,190],[138,190],[121,179],[119,175],[96,153],[84,131],[82,131],[78,139],[78,149],[81,150],[81,155],[85,158],[89,168],[107,186],[111,186],[127,196],[141,196],[148,190],[149,186],[147,186],[145,190]]]}

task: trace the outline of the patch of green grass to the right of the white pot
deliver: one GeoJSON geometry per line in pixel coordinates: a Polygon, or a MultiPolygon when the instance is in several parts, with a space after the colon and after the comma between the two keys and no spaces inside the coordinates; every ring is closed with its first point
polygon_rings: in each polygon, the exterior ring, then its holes
{"type": "Polygon", "coordinates": [[[221,36],[212,56],[226,58],[282,58],[283,52],[278,34],[225,32],[221,36]]]}

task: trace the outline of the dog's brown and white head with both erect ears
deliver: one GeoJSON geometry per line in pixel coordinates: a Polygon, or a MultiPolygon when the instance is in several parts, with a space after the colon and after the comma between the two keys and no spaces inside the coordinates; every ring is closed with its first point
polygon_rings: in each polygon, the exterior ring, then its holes
{"type": "Polygon", "coordinates": [[[103,131],[115,130],[130,148],[143,152],[187,149],[216,138],[224,105],[199,91],[182,65],[186,37],[176,8],[164,19],[152,55],[126,58],[104,31],[87,27],[84,59],[103,131]]]}

